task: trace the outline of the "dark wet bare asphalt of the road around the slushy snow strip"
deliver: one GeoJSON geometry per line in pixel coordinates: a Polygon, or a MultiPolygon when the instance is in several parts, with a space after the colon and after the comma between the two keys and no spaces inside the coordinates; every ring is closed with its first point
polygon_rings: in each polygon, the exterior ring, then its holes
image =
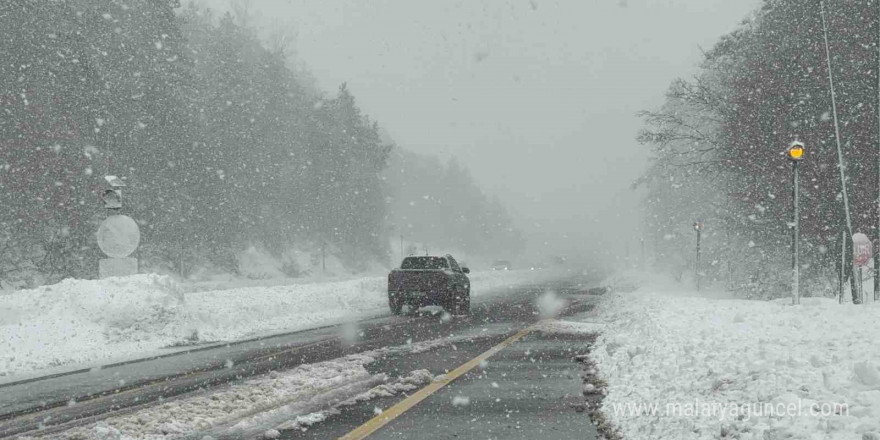
{"type": "MultiPolygon", "coordinates": [[[[537,322],[541,316],[536,299],[548,290],[567,302],[563,315],[588,310],[593,297],[585,292],[593,281],[569,277],[475,298],[467,317],[440,319],[415,313],[362,321],[358,323],[362,336],[354,344],[344,341],[340,328],[332,326],[0,384],[0,438],[51,437],[163,399],[210,392],[270,371],[381,347],[473,335],[436,350],[393,355],[367,365],[371,372],[389,376],[417,369],[435,375],[454,372],[537,322]]],[[[589,343],[589,335],[525,333],[407,411],[386,416],[369,438],[595,438],[583,412],[580,367],[572,360],[586,353],[589,343]]],[[[307,429],[282,431],[281,437],[343,437],[405,399],[406,395],[392,396],[347,406],[307,429]]]]}

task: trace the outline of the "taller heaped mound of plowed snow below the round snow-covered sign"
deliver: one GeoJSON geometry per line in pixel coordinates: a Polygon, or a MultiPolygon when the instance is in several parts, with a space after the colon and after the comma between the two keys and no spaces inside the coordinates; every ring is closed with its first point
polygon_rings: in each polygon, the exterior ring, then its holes
{"type": "Polygon", "coordinates": [[[181,341],[190,334],[184,315],[175,284],[156,275],[0,295],[0,379],[181,341]]]}

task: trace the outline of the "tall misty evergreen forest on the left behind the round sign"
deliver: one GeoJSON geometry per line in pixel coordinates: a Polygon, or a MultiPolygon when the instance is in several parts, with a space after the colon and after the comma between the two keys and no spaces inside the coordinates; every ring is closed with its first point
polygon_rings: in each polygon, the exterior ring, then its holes
{"type": "Polygon", "coordinates": [[[3,2],[0,279],[93,277],[104,175],[125,177],[156,268],[236,272],[253,243],[387,261],[392,146],[345,84],[320,92],[246,21],[177,0],[3,2]]]}

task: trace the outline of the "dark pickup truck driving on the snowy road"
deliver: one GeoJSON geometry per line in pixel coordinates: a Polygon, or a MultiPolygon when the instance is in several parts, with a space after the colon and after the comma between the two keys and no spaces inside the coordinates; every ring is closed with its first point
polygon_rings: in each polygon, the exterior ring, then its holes
{"type": "Polygon", "coordinates": [[[388,274],[388,305],[399,315],[411,310],[441,306],[453,315],[467,315],[471,308],[471,271],[460,267],[451,255],[406,257],[400,269],[388,274]]]}

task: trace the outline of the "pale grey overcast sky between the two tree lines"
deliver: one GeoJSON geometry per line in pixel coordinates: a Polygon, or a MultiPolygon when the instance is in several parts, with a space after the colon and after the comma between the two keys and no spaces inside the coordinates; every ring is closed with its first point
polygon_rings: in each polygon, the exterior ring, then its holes
{"type": "Polygon", "coordinates": [[[297,56],[323,89],[347,82],[402,147],[458,157],[532,231],[622,253],[607,241],[634,246],[639,235],[628,189],[645,165],[635,113],[659,106],[701,48],[760,1],[251,4],[266,27],[295,29],[297,56]]]}

